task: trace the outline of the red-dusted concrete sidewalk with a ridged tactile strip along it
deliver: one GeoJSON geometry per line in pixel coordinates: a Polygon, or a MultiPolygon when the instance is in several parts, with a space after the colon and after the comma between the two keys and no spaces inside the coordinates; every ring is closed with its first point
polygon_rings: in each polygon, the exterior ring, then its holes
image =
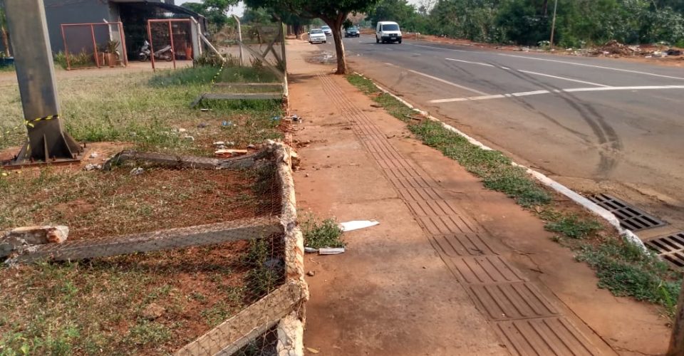
{"type": "Polygon", "coordinates": [[[379,226],[345,234],[347,252],[307,255],[306,347],[320,355],[658,354],[667,320],[596,287],[527,214],[331,66],[289,42],[290,103],[306,142],[300,209],[379,226]],[[615,350],[615,351],[613,351],[615,350]]]}

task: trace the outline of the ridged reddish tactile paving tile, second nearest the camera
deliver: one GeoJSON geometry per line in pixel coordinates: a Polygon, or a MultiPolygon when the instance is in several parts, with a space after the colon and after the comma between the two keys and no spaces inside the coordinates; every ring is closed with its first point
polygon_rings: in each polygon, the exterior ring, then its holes
{"type": "Polygon", "coordinates": [[[539,318],[557,315],[549,300],[531,283],[497,283],[470,286],[475,302],[492,320],[539,318]]]}

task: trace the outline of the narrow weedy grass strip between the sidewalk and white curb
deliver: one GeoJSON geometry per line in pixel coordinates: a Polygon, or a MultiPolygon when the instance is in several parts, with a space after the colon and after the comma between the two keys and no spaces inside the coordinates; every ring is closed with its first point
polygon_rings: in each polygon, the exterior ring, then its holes
{"type": "Polygon", "coordinates": [[[517,204],[546,222],[554,241],[571,248],[578,261],[585,261],[598,276],[598,286],[617,296],[630,296],[663,307],[666,315],[675,313],[682,273],[670,271],[654,253],[618,236],[615,229],[601,224],[595,216],[563,204],[554,192],[541,186],[522,167],[514,167],[501,152],[483,150],[464,137],[447,130],[440,122],[420,114],[380,91],[371,80],[349,75],[348,81],[383,105],[391,115],[408,125],[425,145],[459,162],[482,179],[485,187],[507,194],[517,204]]]}

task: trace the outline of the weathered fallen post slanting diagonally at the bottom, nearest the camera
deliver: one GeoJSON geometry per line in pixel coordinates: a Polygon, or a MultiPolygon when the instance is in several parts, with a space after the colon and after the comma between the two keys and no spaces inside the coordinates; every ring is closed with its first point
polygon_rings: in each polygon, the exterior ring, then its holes
{"type": "Polygon", "coordinates": [[[298,308],[301,292],[299,283],[286,282],[174,355],[232,355],[298,308]]]}

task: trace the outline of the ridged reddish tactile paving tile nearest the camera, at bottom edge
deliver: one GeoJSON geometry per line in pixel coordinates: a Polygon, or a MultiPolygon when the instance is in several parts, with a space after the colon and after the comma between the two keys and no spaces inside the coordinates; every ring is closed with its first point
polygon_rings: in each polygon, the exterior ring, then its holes
{"type": "Polygon", "coordinates": [[[540,318],[494,323],[513,355],[591,356],[589,340],[565,318],[540,318]]]}

